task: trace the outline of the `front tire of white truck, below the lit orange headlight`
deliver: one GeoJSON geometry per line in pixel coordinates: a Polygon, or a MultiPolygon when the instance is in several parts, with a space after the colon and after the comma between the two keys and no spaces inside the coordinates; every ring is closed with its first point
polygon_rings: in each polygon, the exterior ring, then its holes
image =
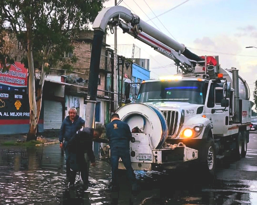
{"type": "Polygon", "coordinates": [[[206,139],[203,150],[199,150],[199,160],[201,169],[205,176],[216,175],[216,152],[215,143],[212,138],[206,139]]]}

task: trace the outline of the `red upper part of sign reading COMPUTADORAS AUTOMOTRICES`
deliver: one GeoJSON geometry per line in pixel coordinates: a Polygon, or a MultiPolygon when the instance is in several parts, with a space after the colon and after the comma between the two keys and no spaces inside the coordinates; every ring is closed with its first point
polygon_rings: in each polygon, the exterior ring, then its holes
{"type": "Polygon", "coordinates": [[[24,67],[24,64],[15,62],[15,64],[10,66],[9,71],[5,72],[0,68],[0,84],[27,87],[27,69],[24,67]]]}

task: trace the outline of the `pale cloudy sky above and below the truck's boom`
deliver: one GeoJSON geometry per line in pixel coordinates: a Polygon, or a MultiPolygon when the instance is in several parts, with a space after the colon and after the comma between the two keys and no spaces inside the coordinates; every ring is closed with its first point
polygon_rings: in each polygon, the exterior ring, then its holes
{"type": "MultiPolygon", "coordinates": [[[[114,2],[106,2],[105,7],[113,6],[114,2]]],[[[253,99],[257,79],[257,48],[245,47],[257,47],[256,0],[123,0],[119,5],[127,7],[153,27],[158,27],[191,52],[199,56],[219,55],[222,68],[236,67],[239,70],[239,75],[248,82],[250,99],[253,99]],[[169,11],[173,7],[176,8],[169,11]],[[158,18],[149,20],[166,11],[158,18]]],[[[106,42],[114,45],[114,35],[109,34],[106,42]]],[[[176,73],[175,67],[166,66],[174,63],[171,59],[123,34],[121,29],[118,29],[117,42],[135,44],[141,48],[140,57],[150,59],[151,78],[176,73]]]]}

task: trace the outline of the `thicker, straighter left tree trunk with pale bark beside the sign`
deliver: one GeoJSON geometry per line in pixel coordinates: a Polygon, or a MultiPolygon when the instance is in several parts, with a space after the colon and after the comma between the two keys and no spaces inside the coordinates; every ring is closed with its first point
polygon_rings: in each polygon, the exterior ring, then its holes
{"type": "Polygon", "coordinates": [[[32,55],[32,45],[28,39],[27,57],[29,63],[29,103],[30,103],[30,129],[27,134],[27,140],[36,140],[36,126],[38,124],[37,110],[36,110],[36,97],[35,97],[35,71],[32,55]]]}

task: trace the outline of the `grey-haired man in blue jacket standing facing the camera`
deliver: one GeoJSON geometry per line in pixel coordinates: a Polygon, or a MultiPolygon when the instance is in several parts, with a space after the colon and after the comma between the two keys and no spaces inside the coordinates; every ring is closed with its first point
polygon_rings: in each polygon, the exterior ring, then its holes
{"type": "Polygon", "coordinates": [[[85,120],[77,115],[76,108],[71,107],[69,109],[69,116],[67,116],[63,120],[61,129],[59,132],[60,148],[65,150],[66,176],[68,181],[70,180],[70,174],[71,174],[70,163],[69,163],[70,153],[68,152],[68,149],[66,149],[66,147],[71,137],[74,134],[76,134],[77,131],[82,128],[82,126],[85,126],[85,120]],[[64,140],[64,143],[63,143],[63,140],[64,140]]]}

